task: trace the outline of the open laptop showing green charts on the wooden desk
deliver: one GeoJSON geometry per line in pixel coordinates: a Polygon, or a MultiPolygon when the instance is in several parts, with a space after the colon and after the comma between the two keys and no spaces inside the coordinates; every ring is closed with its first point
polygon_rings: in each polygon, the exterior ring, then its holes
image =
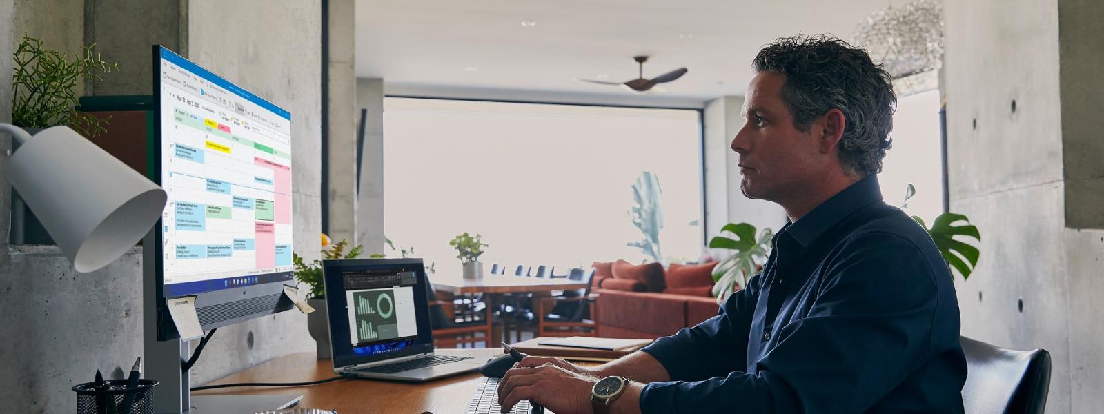
{"type": "Polygon", "coordinates": [[[326,259],[322,282],[335,373],[422,382],[486,362],[434,354],[421,258],[326,259]]]}

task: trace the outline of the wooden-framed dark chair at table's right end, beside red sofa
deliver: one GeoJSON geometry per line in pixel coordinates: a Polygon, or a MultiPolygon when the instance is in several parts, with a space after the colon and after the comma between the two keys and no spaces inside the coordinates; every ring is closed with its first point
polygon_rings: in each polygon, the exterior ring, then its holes
{"type": "MultiPolygon", "coordinates": [[[[537,336],[539,337],[597,337],[594,300],[591,294],[594,268],[583,273],[586,288],[581,294],[540,298],[537,301],[537,336]]],[[[571,291],[571,290],[569,290],[571,291]]]]}

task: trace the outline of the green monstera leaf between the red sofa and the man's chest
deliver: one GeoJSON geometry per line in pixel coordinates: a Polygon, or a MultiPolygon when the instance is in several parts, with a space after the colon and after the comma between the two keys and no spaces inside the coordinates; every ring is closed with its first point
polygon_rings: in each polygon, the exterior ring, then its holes
{"type": "Polygon", "coordinates": [[[736,283],[746,287],[757,266],[766,262],[774,233],[771,229],[763,229],[756,238],[755,226],[747,223],[729,223],[721,227],[721,232],[732,233],[736,237],[716,236],[709,241],[710,248],[733,251],[731,256],[721,259],[713,267],[713,296],[716,301],[724,302],[732,295],[736,283]]]}

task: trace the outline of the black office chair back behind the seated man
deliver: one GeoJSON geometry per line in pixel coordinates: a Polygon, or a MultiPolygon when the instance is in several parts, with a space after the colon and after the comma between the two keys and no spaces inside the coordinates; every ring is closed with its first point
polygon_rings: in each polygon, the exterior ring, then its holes
{"type": "Polygon", "coordinates": [[[960,337],[966,353],[966,413],[1042,414],[1050,390],[1050,352],[1017,351],[960,337]]]}

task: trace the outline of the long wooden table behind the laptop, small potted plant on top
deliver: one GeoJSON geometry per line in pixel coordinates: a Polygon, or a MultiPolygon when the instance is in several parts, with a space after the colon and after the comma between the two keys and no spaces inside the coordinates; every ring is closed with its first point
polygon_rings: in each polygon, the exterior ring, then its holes
{"type": "MultiPolygon", "coordinates": [[[[495,309],[500,304],[503,295],[508,294],[533,294],[533,296],[549,296],[554,290],[585,289],[586,283],[583,280],[572,280],[567,278],[542,278],[528,276],[506,276],[485,275],[479,279],[465,279],[455,274],[435,274],[429,276],[429,283],[437,291],[445,291],[454,295],[486,294],[487,308],[495,309]]],[[[492,327],[491,337],[503,339],[507,318],[502,325],[492,327]]],[[[506,338],[509,342],[509,338],[506,338]]]]}

